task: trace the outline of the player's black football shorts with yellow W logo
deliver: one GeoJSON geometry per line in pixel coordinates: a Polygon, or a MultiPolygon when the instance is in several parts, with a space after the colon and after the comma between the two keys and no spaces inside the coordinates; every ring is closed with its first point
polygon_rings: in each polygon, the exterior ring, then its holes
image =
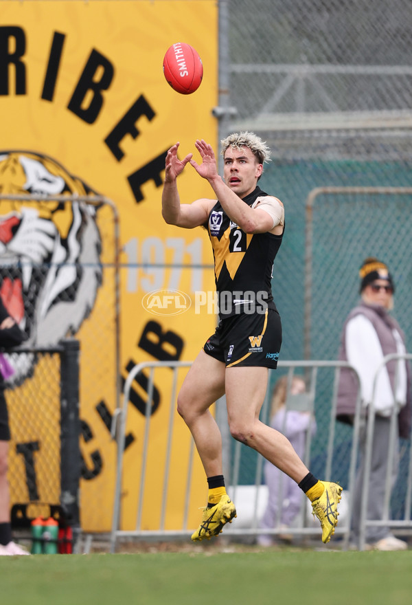
{"type": "Polygon", "coordinates": [[[282,344],[282,324],[275,309],[265,314],[239,314],[220,320],[203,345],[207,355],[227,368],[260,366],[276,369],[282,344]]]}

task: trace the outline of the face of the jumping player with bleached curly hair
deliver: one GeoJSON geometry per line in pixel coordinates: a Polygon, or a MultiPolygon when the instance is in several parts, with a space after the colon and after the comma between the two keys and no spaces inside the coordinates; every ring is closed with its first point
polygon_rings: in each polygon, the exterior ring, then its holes
{"type": "Polygon", "coordinates": [[[223,162],[227,186],[239,197],[249,195],[255,189],[263,169],[249,147],[228,147],[223,162]]]}

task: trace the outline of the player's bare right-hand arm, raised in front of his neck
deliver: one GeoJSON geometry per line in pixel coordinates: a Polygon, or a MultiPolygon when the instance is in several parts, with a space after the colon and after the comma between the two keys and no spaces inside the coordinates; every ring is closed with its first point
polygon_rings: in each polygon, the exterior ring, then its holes
{"type": "MultiPolygon", "coordinates": [[[[218,175],[216,157],[211,145],[207,144],[204,140],[197,140],[195,145],[201,155],[202,164],[197,164],[192,157],[189,160],[190,164],[192,164],[201,177],[207,179],[231,221],[239,225],[242,231],[246,233],[265,233],[272,230],[275,232],[277,225],[273,225],[273,218],[266,210],[248,206],[218,175]]],[[[248,158],[240,158],[239,161],[247,162],[248,158]]],[[[259,169],[257,169],[257,173],[259,173],[259,169]]],[[[258,175],[253,181],[251,191],[255,188],[258,175]]],[[[280,232],[282,232],[282,228],[280,232]]]]}

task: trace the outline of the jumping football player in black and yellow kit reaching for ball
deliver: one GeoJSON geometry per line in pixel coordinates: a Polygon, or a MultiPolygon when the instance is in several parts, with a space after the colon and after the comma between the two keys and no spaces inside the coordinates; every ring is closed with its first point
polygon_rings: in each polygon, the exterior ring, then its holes
{"type": "MultiPolygon", "coordinates": [[[[270,149],[253,133],[233,133],[222,140],[224,179],[218,175],[211,145],[196,140],[201,164],[188,153],[179,159],[179,143],[165,159],[162,215],[182,228],[205,227],[214,252],[219,324],[188,371],[177,409],[192,432],[209,487],[207,506],[192,540],[216,536],[236,517],[222,474],[222,439],[210,406],[226,395],[231,435],[257,450],[299,484],[319,518],[328,542],[338,520],[342,488],[309,472],[288,439],[259,419],[282,342],[273,302],[273,261],[284,234],[284,206],[258,186],[270,149]],[[206,179],[213,199],[181,203],[177,177],[187,164],[206,179]]],[[[275,287],[282,287],[277,283],[275,287]]]]}

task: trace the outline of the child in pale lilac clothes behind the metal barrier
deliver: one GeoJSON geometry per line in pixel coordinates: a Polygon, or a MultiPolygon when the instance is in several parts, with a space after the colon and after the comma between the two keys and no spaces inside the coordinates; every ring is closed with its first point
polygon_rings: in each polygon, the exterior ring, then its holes
{"type": "MultiPolygon", "coordinates": [[[[295,452],[304,458],[308,432],[314,434],[316,422],[308,406],[308,394],[304,378],[298,375],[290,380],[279,378],[273,387],[271,399],[271,427],[282,432],[292,443],[295,452]]],[[[264,463],[264,480],[268,487],[268,503],[260,520],[260,529],[279,527],[279,540],[291,542],[289,533],[301,508],[301,490],[295,481],[283,475],[277,467],[264,463]]],[[[273,535],[261,533],[260,546],[271,546],[273,535]]]]}

